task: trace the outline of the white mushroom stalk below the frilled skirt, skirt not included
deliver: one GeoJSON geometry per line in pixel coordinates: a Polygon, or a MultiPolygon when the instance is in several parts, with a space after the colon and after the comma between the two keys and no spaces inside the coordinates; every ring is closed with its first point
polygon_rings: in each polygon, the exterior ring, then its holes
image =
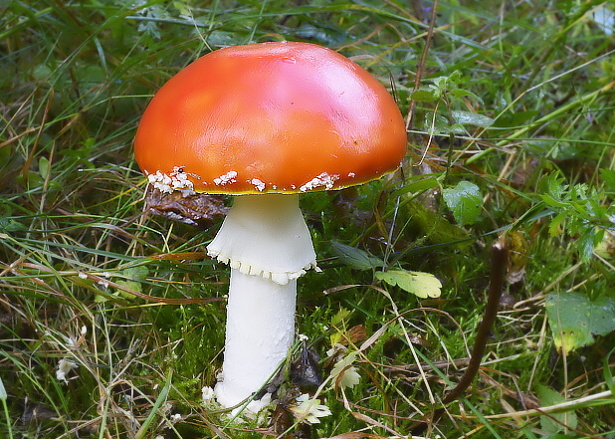
{"type": "MultiPolygon", "coordinates": [[[[215,387],[223,407],[233,407],[266,384],[288,355],[295,333],[297,281],[280,285],[231,270],[222,380],[215,387]]],[[[252,401],[256,413],[268,398],[252,401]]]]}

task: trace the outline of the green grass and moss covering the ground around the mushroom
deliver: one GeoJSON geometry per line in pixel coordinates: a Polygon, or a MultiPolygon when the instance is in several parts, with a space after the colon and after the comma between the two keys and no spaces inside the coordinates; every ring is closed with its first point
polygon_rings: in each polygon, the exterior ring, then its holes
{"type": "Polygon", "coordinates": [[[412,5],[0,5],[0,436],[615,437],[613,7],[412,5]],[[272,425],[203,403],[224,343],[228,274],[202,255],[219,218],[148,213],[131,150],[183,66],[282,39],[352,57],[412,120],[403,179],[303,199],[324,274],[301,281],[298,332],[325,377],[335,342],[361,377],[326,381],[333,415],[313,425],[288,404],[272,425]],[[434,419],[468,366],[498,239],[509,277],[481,367],[434,419]],[[331,242],[432,273],[442,294],[379,281],[331,242]],[[571,316],[573,299],[600,306],[571,316]]]}

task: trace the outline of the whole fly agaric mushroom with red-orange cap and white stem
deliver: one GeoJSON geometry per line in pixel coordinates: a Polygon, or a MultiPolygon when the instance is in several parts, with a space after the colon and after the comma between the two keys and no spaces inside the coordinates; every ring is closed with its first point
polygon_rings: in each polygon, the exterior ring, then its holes
{"type": "Polygon", "coordinates": [[[314,44],[220,49],[153,97],[135,139],[149,182],[238,195],[207,247],[231,267],[215,388],[222,406],[261,389],[293,343],[297,279],[316,268],[298,194],[377,179],[405,151],[403,117],[385,87],[314,44]]]}

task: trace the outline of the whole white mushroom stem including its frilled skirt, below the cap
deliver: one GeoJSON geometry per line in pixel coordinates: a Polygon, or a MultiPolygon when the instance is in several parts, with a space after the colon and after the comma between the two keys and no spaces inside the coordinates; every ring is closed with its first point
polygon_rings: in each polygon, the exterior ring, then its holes
{"type": "Polygon", "coordinates": [[[207,250],[231,266],[222,379],[215,392],[222,406],[232,407],[266,384],[288,354],[297,278],[316,268],[316,255],[298,195],[282,194],[236,197],[207,250]]]}

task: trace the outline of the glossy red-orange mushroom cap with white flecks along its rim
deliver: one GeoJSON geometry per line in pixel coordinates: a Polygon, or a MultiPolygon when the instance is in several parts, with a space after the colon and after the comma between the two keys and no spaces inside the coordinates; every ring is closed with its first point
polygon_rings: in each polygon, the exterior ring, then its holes
{"type": "Polygon", "coordinates": [[[211,52],[153,97],[137,163],[163,190],[245,194],[337,189],[395,170],[403,117],[348,58],[307,43],[211,52]]]}

